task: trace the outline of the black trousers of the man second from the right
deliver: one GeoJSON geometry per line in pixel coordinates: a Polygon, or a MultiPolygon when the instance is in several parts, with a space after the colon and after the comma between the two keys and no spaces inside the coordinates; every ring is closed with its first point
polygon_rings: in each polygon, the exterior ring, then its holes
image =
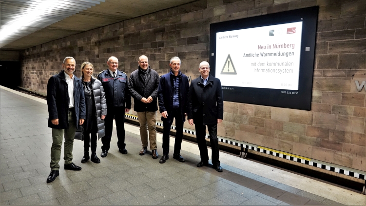
{"type": "Polygon", "coordinates": [[[163,154],[169,154],[169,133],[170,128],[173,124],[173,118],[175,118],[175,143],[174,143],[174,154],[180,154],[180,147],[183,139],[183,120],[181,108],[176,108],[168,114],[166,119],[163,119],[163,154]]]}

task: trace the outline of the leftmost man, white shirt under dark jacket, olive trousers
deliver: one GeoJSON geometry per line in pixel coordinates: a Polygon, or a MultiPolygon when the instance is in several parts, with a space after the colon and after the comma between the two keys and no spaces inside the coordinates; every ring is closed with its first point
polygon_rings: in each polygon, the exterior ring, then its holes
{"type": "Polygon", "coordinates": [[[64,70],[52,76],[47,83],[48,127],[52,128],[51,173],[47,183],[59,175],[58,162],[64,135],[64,168],[81,170],[73,163],[73,146],[75,131],[85,120],[85,99],[82,82],[73,74],[75,64],[74,58],[66,57],[62,63],[64,70]]]}

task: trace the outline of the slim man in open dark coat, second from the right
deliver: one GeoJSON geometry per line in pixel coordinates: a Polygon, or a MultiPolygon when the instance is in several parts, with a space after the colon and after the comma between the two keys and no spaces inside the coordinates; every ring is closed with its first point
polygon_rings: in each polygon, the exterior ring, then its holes
{"type": "Polygon", "coordinates": [[[175,118],[175,143],[173,159],[184,162],[180,156],[180,146],[183,138],[183,123],[188,113],[189,82],[186,75],[180,72],[180,59],[173,57],[170,60],[171,70],[160,79],[158,98],[161,121],[163,121],[163,156],[159,163],[165,163],[169,159],[169,133],[175,118]]]}

